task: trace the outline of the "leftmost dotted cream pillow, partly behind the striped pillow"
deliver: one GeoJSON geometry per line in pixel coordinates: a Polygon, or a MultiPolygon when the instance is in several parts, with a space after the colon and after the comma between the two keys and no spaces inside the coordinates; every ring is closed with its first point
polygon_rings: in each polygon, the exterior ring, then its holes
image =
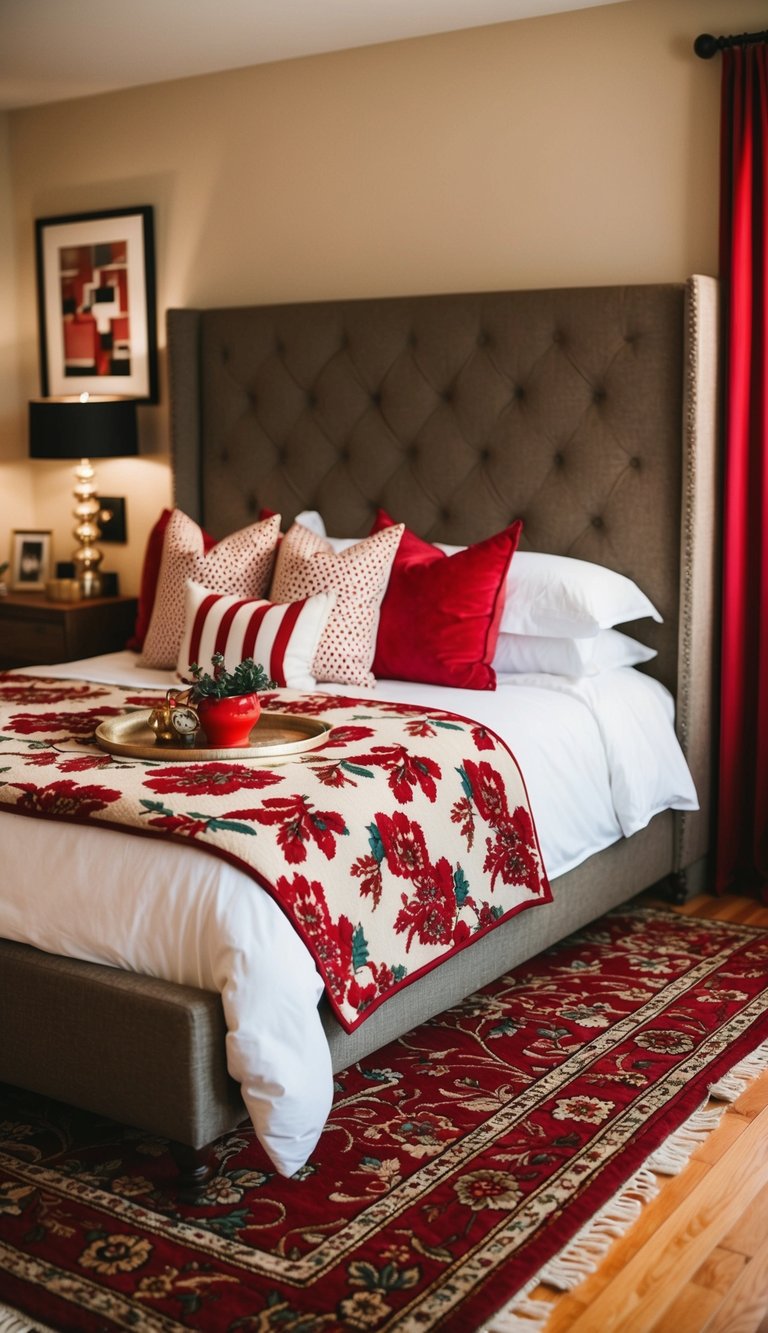
{"type": "Polygon", "coordinates": [[[173,509],[163,539],[157,591],[140,665],[164,670],[176,665],[184,633],[188,579],[204,584],[211,592],[264,597],[279,536],[280,515],[273,515],[264,523],[233,532],[205,552],[201,528],[181,509],[173,509]]]}

